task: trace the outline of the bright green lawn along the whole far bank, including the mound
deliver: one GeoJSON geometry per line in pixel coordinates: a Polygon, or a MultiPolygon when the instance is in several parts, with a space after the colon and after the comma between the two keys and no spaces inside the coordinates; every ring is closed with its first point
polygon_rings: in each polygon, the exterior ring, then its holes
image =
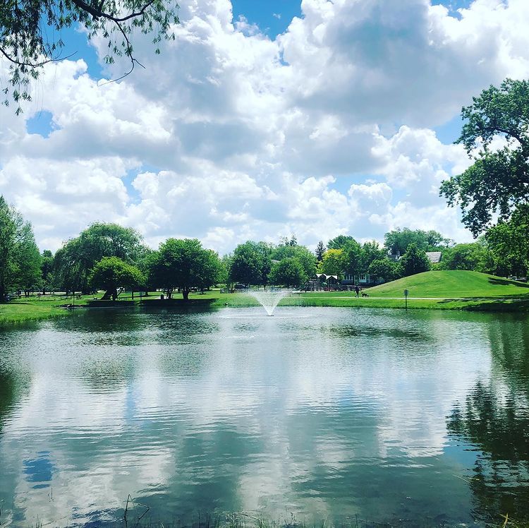
{"type": "MultiPolygon", "coordinates": [[[[404,289],[408,289],[408,308],[434,308],[444,310],[466,309],[480,311],[529,310],[529,284],[506,280],[494,275],[473,271],[430,271],[365,289],[369,297],[355,297],[354,292],[307,292],[285,297],[279,306],[336,306],[370,308],[404,308],[404,289]]],[[[99,295],[100,297],[101,295],[99,295]]],[[[143,306],[159,304],[159,292],[142,297],[143,306]]],[[[204,294],[190,294],[190,304],[207,304],[215,308],[258,306],[257,301],[245,293],[221,294],[218,289],[204,294]]],[[[85,305],[94,296],[81,296],[75,304],[85,305]]],[[[129,301],[130,296],[120,299],[129,301]]],[[[180,304],[181,295],[174,301],[180,304]]],[[[60,305],[71,304],[71,296],[36,296],[0,304],[0,327],[26,320],[68,316],[71,311],[60,305]]],[[[140,303],[138,294],[135,304],[140,303]]],[[[181,301],[183,304],[183,301],[181,301]]],[[[169,304],[167,304],[169,305],[169,304]]],[[[167,306],[166,305],[166,306],[167,306]]],[[[123,304],[124,306],[124,304],[123,304]]]]}

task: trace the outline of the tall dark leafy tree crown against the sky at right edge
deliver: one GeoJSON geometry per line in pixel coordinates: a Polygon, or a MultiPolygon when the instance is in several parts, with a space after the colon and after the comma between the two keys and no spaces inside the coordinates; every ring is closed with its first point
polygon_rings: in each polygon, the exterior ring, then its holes
{"type": "Polygon", "coordinates": [[[529,82],[506,79],[490,86],[461,109],[466,120],[461,143],[474,163],[442,182],[440,195],[459,205],[463,223],[474,236],[490,227],[494,215],[509,220],[529,198],[529,82]],[[504,138],[503,148],[492,141],[504,138]]]}

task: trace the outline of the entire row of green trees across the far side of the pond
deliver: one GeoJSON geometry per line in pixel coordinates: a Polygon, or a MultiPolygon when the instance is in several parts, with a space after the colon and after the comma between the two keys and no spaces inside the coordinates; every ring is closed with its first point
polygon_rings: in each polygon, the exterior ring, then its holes
{"type": "Polygon", "coordinates": [[[278,244],[247,241],[222,258],[197,239],[167,239],[153,251],[135,229],[95,223],[52,254],[39,253],[30,223],[0,196],[0,300],[18,291],[96,289],[115,299],[121,288],[163,289],[168,298],[178,291],[187,299],[193,289],[214,284],[303,287],[317,273],[339,280],[369,275],[372,282],[430,269],[525,276],[529,222],[524,222],[514,217],[470,244],[454,244],[435,231],[396,229],[384,236],[383,246],[339,235],[327,245],[320,241],[313,253],[291,236],[278,244]],[[427,252],[440,252],[442,258],[432,263],[427,252]]]}

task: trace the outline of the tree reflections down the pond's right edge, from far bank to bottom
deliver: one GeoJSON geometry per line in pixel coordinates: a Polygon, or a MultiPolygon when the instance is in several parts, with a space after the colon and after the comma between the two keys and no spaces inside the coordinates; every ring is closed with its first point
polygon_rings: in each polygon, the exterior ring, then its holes
{"type": "Polygon", "coordinates": [[[529,520],[529,328],[525,316],[489,325],[492,377],[478,380],[448,419],[456,438],[480,450],[470,474],[476,514],[529,520]]]}

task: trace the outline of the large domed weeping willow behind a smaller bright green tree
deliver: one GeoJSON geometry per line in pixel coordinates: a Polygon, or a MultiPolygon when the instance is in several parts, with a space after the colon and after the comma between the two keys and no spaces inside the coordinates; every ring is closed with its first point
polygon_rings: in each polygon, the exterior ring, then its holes
{"type": "Polygon", "coordinates": [[[135,263],[145,253],[141,236],[130,227],[95,223],[55,253],[54,275],[58,287],[89,292],[90,270],[103,257],[135,263]]]}

